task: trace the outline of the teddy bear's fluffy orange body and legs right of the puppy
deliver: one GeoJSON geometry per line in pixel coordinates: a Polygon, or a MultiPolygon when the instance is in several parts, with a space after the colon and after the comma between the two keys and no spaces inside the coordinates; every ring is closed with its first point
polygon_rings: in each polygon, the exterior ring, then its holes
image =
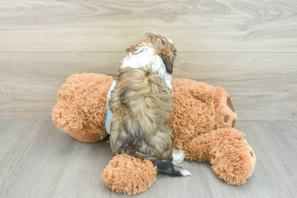
{"type": "Polygon", "coordinates": [[[227,183],[240,185],[251,176],[255,152],[236,127],[231,98],[221,87],[190,79],[173,79],[173,148],[185,151],[185,160],[209,161],[227,183]],[[228,117],[228,120],[225,119],[228,117]]]}

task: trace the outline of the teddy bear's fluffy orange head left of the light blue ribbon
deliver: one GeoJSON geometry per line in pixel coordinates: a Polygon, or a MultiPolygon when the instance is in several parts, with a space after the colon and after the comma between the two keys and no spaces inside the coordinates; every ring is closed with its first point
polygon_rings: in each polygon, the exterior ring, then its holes
{"type": "Polygon", "coordinates": [[[111,76],[83,73],[68,77],[52,109],[55,125],[79,141],[91,143],[107,135],[105,113],[111,76]],[[94,133],[94,134],[93,134],[94,133]]]}

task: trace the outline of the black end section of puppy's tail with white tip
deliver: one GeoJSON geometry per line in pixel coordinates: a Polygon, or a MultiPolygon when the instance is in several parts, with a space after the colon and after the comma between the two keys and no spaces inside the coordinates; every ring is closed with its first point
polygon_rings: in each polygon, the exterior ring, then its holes
{"type": "Polygon", "coordinates": [[[166,173],[173,176],[187,176],[191,173],[180,166],[174,165],[171,161],[166,159],[158,159],[153,161],[154,166],[157,166],[159,172],[166,173]]]}

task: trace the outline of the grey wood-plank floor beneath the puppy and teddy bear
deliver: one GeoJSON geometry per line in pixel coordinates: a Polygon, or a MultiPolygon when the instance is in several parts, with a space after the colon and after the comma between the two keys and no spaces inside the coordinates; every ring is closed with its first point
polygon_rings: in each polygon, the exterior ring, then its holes
{"type": "MultiPolygon", "coordinates": [[[[102,181],[112,159],[107,138],[82,143],[52,121],[0,121],[0,197],[128,197],[102,181]]],[[[257,163],[247,183],[220,180],[210,163],[182,162],[192,176],[157,175],[144,193],[130,197],[296,197],[297,122],[238,122],[257,163]]]]}

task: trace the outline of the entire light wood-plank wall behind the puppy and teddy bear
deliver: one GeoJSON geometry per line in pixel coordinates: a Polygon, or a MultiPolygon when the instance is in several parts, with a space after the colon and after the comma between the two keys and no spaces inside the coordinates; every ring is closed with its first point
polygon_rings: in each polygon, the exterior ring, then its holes
{"type": "Polygon", "coordinates": [[[241,121],[297,121],[297,2],[0,0],[0,119],[51,119],[68,76],[115,76],[146,32],[173,77],[222,86],[241,121]]]}

